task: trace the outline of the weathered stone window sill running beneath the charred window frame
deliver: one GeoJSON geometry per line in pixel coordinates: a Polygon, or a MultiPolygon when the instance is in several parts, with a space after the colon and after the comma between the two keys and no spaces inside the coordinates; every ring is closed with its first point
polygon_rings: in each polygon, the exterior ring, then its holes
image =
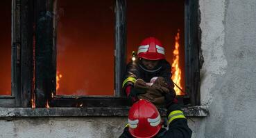
{"type": "MultiPolygon", "coordinates": [[[[123,108],[0,108],[0,118],[5,117],[110,117],[127,116],[128,107],[123,108]]],[[[166,110],[160,108],[160,114],[166,115],[166,110]]],[[[207,117],[207,106],[187,106],[182,108],[187,117],[207,117]]]]}

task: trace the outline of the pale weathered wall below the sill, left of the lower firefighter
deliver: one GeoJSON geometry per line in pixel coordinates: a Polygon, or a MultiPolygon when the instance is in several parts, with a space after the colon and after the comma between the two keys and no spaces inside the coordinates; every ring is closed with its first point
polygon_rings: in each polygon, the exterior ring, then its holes
{"type": "Polygon", "coordinates": [[[57,117],[0,120],[0,137],[26,138],[105,138],[118,137],[123,131],[124,117],[57,117]]]}

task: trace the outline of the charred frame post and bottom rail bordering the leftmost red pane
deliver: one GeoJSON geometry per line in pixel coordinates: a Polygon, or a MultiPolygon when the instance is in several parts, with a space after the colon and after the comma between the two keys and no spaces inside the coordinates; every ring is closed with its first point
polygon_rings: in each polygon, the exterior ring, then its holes
{"type": "Polygon", "coordinates": [[[33,1],[12,0],[12,69],[10,96],[0,96],[1,107],[28,107],[33,79],[33,1]]]}

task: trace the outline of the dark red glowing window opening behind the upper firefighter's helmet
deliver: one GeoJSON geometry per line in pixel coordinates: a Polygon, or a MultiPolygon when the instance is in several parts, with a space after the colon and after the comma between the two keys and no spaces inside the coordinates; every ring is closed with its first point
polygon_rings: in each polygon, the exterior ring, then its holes
{"type": "MultiPolygon", "coordinates": [[[[185,2],[183,0],[129,0],[127,1],[127,61],[130,61],[133,50],[137,52],[139,43],[146,37],[160,39],[165,47],[165,56],[172,66],[177,56],[173,55],[176,36],[179,50],[178,66],[181,70],[180,81],[175,83],[185,90],[185,2]]],[[[176,63],[177,65],[177,63],[176,63]]],[[[172,74],[176,70],[173,64],[172,74]]],[[[174,80],[173,80],[174,81],[174,80]]],[[[182,91],[176,88],[178,95],[182,91]]]]}

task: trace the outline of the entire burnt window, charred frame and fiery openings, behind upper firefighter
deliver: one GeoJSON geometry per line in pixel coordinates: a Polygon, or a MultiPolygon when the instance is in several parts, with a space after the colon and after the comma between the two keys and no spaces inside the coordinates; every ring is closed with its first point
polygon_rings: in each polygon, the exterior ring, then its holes
{"type": "MultiPolygon", "coordinates": [[[[1,6],[8,2],[1,1],[1,6]]],[[[10,10],[11,6],[5,11],[10,10]]],[[[186,95],[180,97],[200,105],[203,60],[196,0],[12,0],[9,18],[12,23],[3,26],[8,34],[6,26],[12,24],[12,37],[4,39],[7,44],[1,48],[6,48],[6,55],[1,59],[11,76],[0,81],[0,86],[6,86],[1,87],[1,95],[8,95],[1,96],[0,106],[128,106],[121,83],[131,51],[153,35],[166,43],[167,60],[172,63],[178,32],[179,50],[185,51],[179,63],[185,78],[180,87],[186,95]],[[11,86],[5,84],[10,81],[11,86]]]]}

